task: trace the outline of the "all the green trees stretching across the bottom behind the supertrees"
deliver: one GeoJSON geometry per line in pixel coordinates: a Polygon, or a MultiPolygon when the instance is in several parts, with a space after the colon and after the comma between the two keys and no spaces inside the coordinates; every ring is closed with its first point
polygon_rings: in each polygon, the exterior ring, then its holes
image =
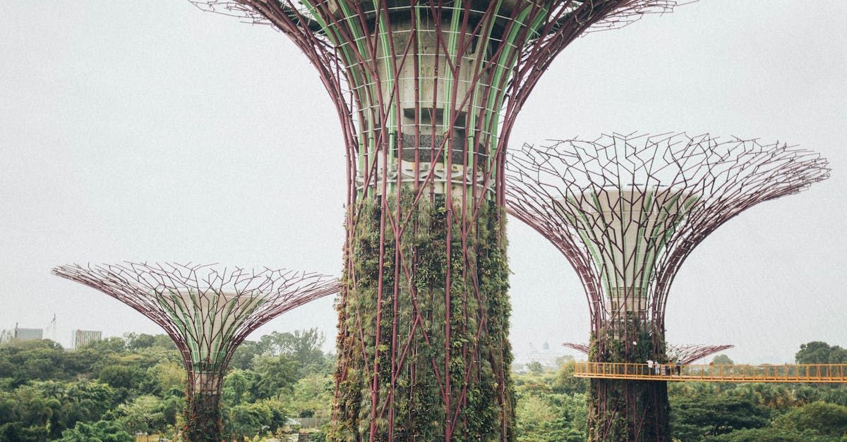
{"type": "MultiPolygon", "coordinates": [[[[290,417],[325,422],[335,361],[320,351],[323,339],[307,330],[241,346],[224,381],[224,428],[231,439],[289,433],[290,417]]],[[[847,351],[811,342],[796,359],[847,363],[847,351]]],[[[185,405],[184,373],[164,335],[128,334],[78,351],[49,340],[0,345],[0,440],[173,438],[185,405]]],[[[585,440],[588,384],[573,378],[573,364],[553,369],[536,362],[513,379],[519,441],[585,440]]],[[[668,383],[668,393],[680,441],[847,441],[845,386],[689,382],[668,383]]],[[[323,437],[313,433],[312,440],[323,437]]]]}

